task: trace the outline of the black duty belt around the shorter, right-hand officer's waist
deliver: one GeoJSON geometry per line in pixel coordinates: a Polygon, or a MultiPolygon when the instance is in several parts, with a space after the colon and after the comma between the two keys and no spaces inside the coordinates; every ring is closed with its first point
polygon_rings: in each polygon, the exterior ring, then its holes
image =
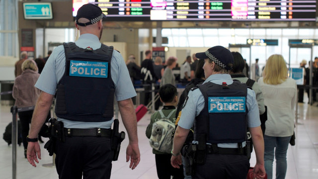
{"type": "Polygon", "coordinates": [[[222,148],[207,144],[207,154],[246,155],[246,147],[240,150],[239,148],[222,148]]]}

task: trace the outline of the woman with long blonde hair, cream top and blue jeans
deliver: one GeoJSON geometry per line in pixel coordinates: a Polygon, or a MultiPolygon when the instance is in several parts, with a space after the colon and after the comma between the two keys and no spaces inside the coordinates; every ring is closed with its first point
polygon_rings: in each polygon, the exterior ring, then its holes
{"type": "Polygon", "coordinates": [[[266,62],[263,77],[258,80],[267,106],[264,165],[268,179],[272,179],[274,156],[276,179],[285,179],[286,154],[295,128],[297,85],[295,80],[287,77],[287,72],[283,56],[272,55],[266,62]]]}

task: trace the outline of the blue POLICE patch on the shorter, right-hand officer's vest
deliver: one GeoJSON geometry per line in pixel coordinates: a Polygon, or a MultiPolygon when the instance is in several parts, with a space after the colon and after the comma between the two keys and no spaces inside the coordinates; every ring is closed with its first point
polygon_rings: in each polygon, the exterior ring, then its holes
{"type": "Polygon", "coordinates": [[[209,97],[209,112],[245,112],[246,97],[209,97]]]}

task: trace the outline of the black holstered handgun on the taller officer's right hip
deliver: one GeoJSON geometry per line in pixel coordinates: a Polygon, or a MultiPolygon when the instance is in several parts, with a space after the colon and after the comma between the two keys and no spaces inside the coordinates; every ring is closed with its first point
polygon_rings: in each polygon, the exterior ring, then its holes
{"type": "Polygon", "coordinates": [[[111,150],[113,152],[113,161],[118,160],[118,155],[120,151],[120,144],[121,142],[125,139],[125,132],[121,131],[120,133],[118,132],[119,129],[119,120],[114,119],[114,126],[113,130],[111,132],[111,150]]]}

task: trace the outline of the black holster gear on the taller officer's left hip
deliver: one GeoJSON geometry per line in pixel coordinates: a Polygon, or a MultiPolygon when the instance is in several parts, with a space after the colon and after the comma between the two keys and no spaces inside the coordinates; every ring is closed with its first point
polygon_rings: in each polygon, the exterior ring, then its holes
{"type": "Polygon", "coordinates": [[[56,141],[59,140],[61,142],[65,142],[63,122],[58,121],[56,118],[50,118],[49,133],[50,140],[45,143],[44,148],[49,152],[49,155],[52,156],[55,152],[56,141]]]}

